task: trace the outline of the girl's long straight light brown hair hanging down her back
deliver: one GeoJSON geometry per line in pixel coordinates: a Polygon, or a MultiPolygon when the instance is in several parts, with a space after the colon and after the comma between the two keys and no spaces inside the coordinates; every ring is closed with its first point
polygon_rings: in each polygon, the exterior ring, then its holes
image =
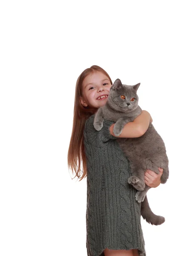
{"type": "MultiPolygon", "coordinates": [[[[82,82],[86,76],[94,72],[102,72],[111,81],[108,73],[99,66],[91,66],[85,69],[77,79],[76,90],[75,90],[75,100],[74,100],[74,118],[73,118],[73,128],[71,134],[70,145],[68,148],[68,169],[71,169],[72,173],[75,173],[74,178],[82,180],[87,176],[87,166],[86,166],[86,156],[85,148],[83,143],[83,130],[85,127],[85,121],[94,113],[96,113],[98,108],[84,107],[80,102],[80,97],[82,97],[82,82]],[[82,171],[81,171],[82,162],[82,171]],[[82,177],[81,177],[82,174],[82,177]]],[[[111,81],[112,84],[112,81],[111,81]]]]}

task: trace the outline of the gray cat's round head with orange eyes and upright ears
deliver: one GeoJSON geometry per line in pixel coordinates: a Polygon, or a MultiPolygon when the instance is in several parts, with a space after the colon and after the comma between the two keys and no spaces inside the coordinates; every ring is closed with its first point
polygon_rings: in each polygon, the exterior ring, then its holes
{"type": "Polygon", "coordinates": [[[139,85],[140,83],[136,85],[122,84],[120,79],[116,79],[108,95],[108,104],[116,111],[127,113],[135,110],[139,100],[136,93],[139,85]]]}

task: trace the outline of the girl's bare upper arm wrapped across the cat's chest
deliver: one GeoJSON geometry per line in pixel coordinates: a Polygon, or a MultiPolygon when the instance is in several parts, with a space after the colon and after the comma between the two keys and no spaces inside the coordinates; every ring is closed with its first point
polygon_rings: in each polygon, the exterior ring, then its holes
{"type": "Polygon", "coordinates": [[[118,138],[137,138],[142,136],[148,129],[150,122],[152,122],[152,117],[150,113],[146,110],[142,110],[142,113],[133,120],[133,122],[128,122],[119,136],[113,133],[114,124],[110,126],[109,130],[111,135],[118,138]]]}

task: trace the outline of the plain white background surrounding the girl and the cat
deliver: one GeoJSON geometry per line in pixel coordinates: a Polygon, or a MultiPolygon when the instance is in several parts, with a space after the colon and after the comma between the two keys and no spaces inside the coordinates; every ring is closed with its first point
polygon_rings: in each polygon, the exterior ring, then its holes
{"type": "MultiPolygon", "coordinates": [[[[87,256],[86,179],[67,166],[75,85],[99,65],[141,83],[170,158],[168,1],[0,2],[0,255],[87,256]]],[[[142,219],[147,256],[168,255],[169,180],[147,193],[155,227],[142,219]]]]}

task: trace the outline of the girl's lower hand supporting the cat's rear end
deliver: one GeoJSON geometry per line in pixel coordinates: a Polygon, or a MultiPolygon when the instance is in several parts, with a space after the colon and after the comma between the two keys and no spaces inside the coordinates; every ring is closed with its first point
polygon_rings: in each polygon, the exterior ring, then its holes
{"type": "Polygon", "coordinates": [[[150,186],[151,188],[156,188],[161,183],[161,176],[163,173],[162,168],[159,169],[159,174],[156,174],[155,172],[151,171],[150,169],[147,169],[144,175],[144,182],[147,186],[150,186]]]}

